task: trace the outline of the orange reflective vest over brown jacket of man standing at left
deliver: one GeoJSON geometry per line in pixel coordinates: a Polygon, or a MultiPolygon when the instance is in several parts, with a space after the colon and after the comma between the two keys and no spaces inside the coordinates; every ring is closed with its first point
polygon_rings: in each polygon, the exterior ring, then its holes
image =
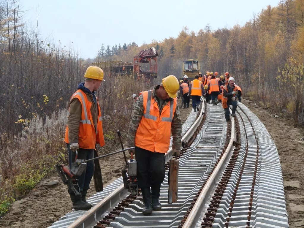
{"type": "MultiPolygon", "coordinates": [[[[102,131],[102,117],[100,112],[100,107],[97,99],[98,107],[98,120],[97,129],[95,129],[94,121],[91,113],[92,102],[88,101],[87,95],[81,89],[78,89],[71,97],[71,100],[77,98],[82,106],[81,120],[79,123],[79,133],[78,133],[78,144],[79,148],[83,149],[96,149],[95,144],[99,143],[100,146],[105,145],[105,140],[103,138],[102,131]]],[[[69,129],[68,126],[65,130],[64,142],[69,143],[69,129]]]]}

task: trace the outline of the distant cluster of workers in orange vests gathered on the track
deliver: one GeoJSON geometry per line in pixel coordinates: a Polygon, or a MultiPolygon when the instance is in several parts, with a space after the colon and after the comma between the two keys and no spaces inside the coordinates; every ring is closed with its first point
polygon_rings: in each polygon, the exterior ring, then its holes
{"type": "Polygon", "coordinates": [[[202,73],[195,75],[195,79],[189,83],[188,76],[184,75],[180,80],[180,96],[182,98],[181,107],[188,108],[190,95],[192,97],[192,107],[194,112],[199,111],[200,97],[204,96],[206,102],[217,105],[222,102],[226,121],[230,120],[229,105],[232,105],[232,114],[235,116],[237,101],[241,102],[242,89],[235,84],[235,80],[229,72],[217,77],[218,72],[209,72],[203,76],[202,73]]]}

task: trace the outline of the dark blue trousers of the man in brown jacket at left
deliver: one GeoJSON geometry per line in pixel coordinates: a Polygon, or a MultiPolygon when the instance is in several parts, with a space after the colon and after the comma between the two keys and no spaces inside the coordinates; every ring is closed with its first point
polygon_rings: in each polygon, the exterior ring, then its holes
{"type": "MultiPolygon", "coordinates": [[[[72,162],[75,161],[76,152],[73,152],[72,150],[69,150],[69,165],[70,169],[72,168],[72,162]]],[[[94,158],[94,150],[93,149],[82,149],[79,148],[78,150],[78,160],[88,160],[94,158]]],[[[92,180],[94,174],[94,161],[88,161],[87,162],[87,169],[86,171],[81,175],[78,176],[78,185],[80,188],[80,191],[82,190],[88,190],[90,188],[90,182],[92,180]]],[[[68,189],[69,193],[72,193],[71,189],[68,189]]]]}

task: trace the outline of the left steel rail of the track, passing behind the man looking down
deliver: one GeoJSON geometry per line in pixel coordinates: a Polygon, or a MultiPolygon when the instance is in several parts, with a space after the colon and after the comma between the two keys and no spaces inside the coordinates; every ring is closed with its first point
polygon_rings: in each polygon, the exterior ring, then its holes
{"type": "MultiPolygon", "coordinates": [[[[202,104],[204,104],[204,100],[202,100],[202,104]]],[[[202,105],[204,107],[204,105],[202,105]]],[[[197,126],[199,125],[200,121],[202,120],[202,115],[205,111],[205,108],[201,108],[198,118],[195,120],[195,122],[192,124],[190,129],[185,133],[185,135],[182,137],[182,142],[186,142],[197,126]]],[[[168,150],[168,152],[165,154],[165,161],[168,162],[170,158],[172,157],[172,148],[168,150]]],[[[93,206],[91,209],[85,212],[85,214],[81,215],[78,219],[76,219],[73,223],[71,223],[67,228],[77,228],[77,227],[88,227],[92,225],[92,221],[97,221],[96,219],[104,213],[104,208],[108,208],[109,205],[113,205],[113,201],[117,201],[117,199],[120,199],[121,196],[127,195],[127,190],[124,189],[124,185],[120,185],[116,190],[114,190],[111,194],[107,195],[104,199],[102,199],[100,202],[98,202],[95,206],[93,206]],[[114,199],[114,200],[113,200],[114,199]],[[87,223],[87,221],[89,221],[87,223]]]]}

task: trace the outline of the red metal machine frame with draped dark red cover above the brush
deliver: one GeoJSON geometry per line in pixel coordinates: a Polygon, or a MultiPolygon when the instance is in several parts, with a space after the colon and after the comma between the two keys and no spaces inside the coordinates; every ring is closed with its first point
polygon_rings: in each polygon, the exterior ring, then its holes
{"type": "Polygon", "coordinates": [[[133,73],[138,78],[141,77],[157,77],[157,51],[154,47],[141,50],[137,56],[134,56],[133,60],[133,73]]]}

